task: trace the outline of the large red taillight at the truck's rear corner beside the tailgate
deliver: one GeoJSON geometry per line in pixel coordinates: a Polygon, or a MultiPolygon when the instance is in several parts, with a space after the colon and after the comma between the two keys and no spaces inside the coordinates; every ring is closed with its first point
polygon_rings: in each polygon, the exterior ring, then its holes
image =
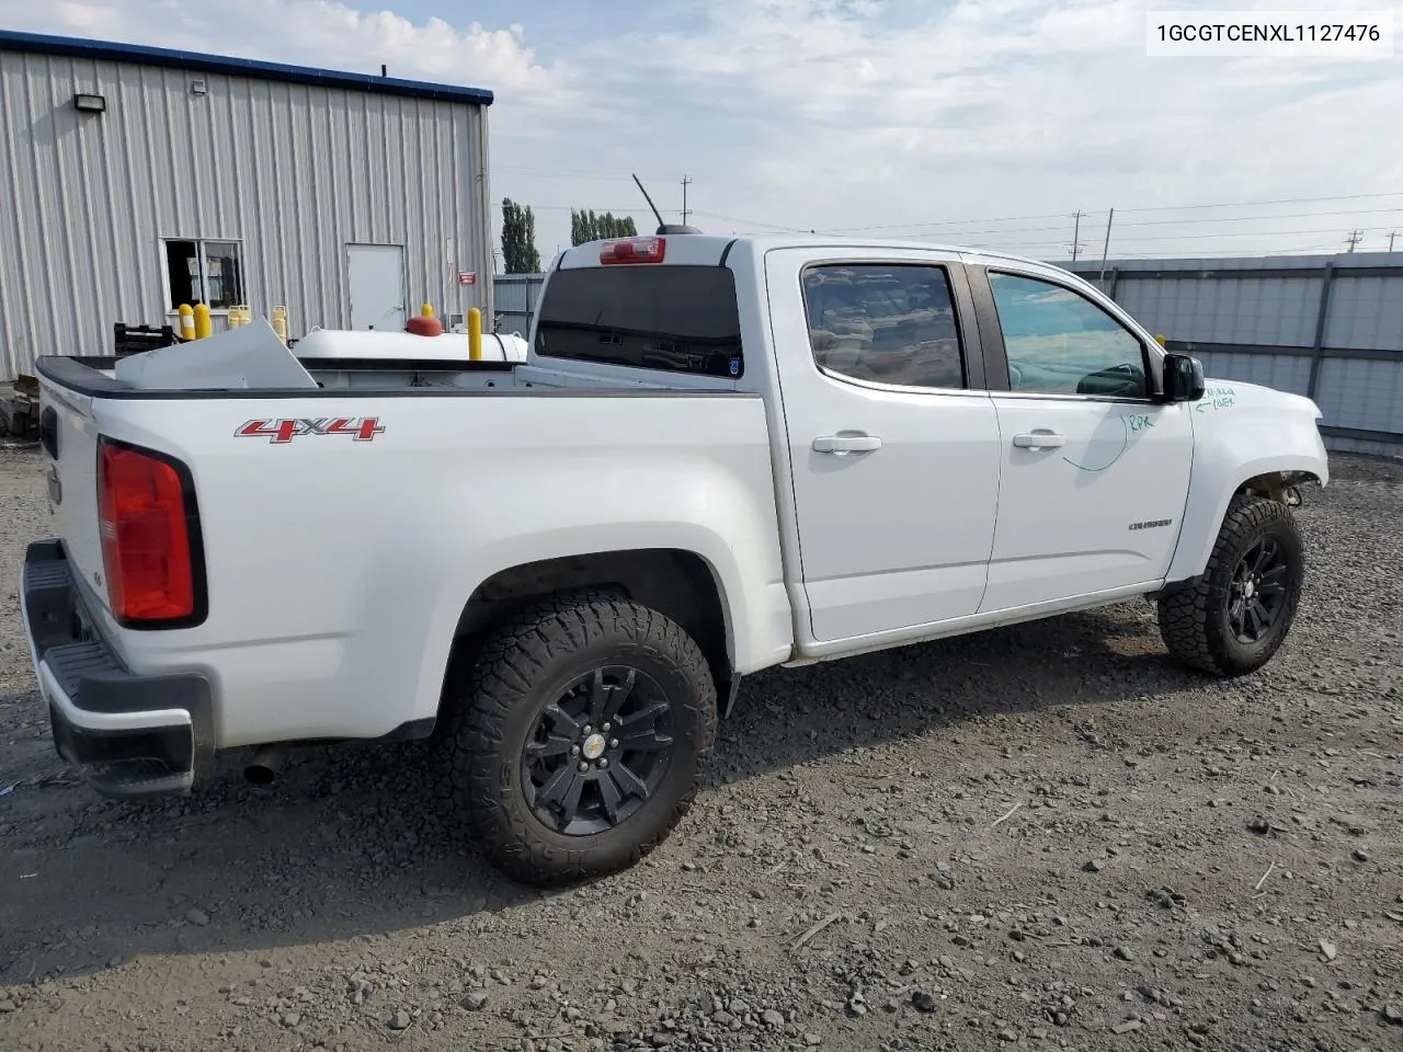
{"type": "Polygon", "coordinates": [[[98,527],[112,616],[122,623],[195,614],[195,560],[181,473],[164,457],[98,442],[98,527]]]}

